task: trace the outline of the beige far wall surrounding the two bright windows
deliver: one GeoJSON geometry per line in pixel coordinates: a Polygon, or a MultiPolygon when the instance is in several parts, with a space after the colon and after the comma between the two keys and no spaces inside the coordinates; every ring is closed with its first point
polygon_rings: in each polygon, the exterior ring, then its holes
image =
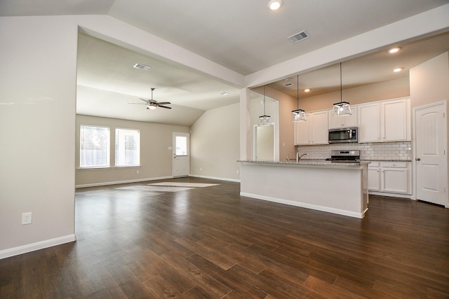
{"type": "Polygon", "coordinates": [[[115,118],[95,116],[76,116],[76,186],[95,186],[107,183],[125,183],[145,181],[173,176],[173,151],[168,148],[173,144],[173,132],[188,133],[188,127],[144,123],[115,118]],[[109,127],[110,163],[106,169],[79,169],[79,126],[99,125],[109,127]],[[140,130],[140,167],[114,168],[114,144],[116,127],[140,130]],[[139,171],[139,173],[137,173],[139,171]]]}

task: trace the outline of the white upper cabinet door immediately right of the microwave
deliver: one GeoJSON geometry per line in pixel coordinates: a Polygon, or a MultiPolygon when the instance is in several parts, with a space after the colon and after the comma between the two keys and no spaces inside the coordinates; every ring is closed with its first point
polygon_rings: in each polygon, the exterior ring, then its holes
{"type": "Polygon", "coordinates": [[[380,142],[380,104],[358,106],[358,142],[380,142]]]}

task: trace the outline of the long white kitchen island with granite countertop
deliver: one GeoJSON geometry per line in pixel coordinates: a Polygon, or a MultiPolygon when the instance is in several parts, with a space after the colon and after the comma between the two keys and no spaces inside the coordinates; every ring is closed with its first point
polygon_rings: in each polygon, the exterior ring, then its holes
{"type": "Polygon", "coordinates": [[[240,195],[363,218],[369,162],[241,162],[240,195]]]}

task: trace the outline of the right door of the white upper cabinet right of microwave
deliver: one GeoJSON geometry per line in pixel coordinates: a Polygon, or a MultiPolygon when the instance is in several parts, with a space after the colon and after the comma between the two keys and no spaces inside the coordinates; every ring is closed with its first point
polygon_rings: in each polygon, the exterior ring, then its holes
{"type": "Polygon", "coordinates": [[[408,139],[409,111],[406,99],[381,104],[382,141],[403,141],[408,139]]]}

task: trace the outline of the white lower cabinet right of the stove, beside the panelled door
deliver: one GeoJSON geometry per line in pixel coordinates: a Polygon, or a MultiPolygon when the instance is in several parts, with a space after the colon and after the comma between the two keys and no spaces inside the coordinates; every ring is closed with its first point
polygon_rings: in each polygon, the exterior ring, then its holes
{"type": "Polygon", "coordinates": [[[411,162],[375,161],[368,165],[368,190],[411,194],[411,162]]]}

